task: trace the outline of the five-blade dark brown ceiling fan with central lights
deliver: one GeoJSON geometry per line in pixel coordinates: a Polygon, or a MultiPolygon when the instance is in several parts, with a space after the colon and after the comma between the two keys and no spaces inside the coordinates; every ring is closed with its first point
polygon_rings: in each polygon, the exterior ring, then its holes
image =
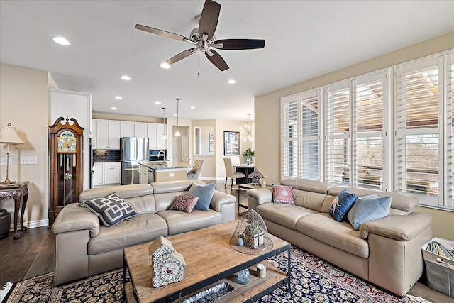
{"type": "Polygon", "coordinates": [[[215,40],[214,31],[218,25],[219,12],[221,11],[221,4],[218,4],[212,0],[205,0],[204,9],[201,11],[201,15],[196,16],[196,20],[199,22],[199,28],[194,28],[191,31],[191,38],[178,35],[176,33],[170,33],[168,31],[162,31],[157,28],[150,28],[149,26],[143,26],[136,24],[135,28],[140,31],[147,31],[148,33],[154,33],[156,35],[162,35],[163,37],[172,38],[179,41],[185,41],[191,43],[193,48],[184,50],[181,53],[171,57],[169,60],[164,62],[161,66],[170,67],[170,65],[178,62],[179,60],[188,57],[196,53],[197,50],[205,53],[205,56],[213,63],[219,70],[228,70],[226,61],[223,60],[216,50],[251,50],[255,48],[265,48],[265,40],[260,39],[224,39],[215,40]]]}

